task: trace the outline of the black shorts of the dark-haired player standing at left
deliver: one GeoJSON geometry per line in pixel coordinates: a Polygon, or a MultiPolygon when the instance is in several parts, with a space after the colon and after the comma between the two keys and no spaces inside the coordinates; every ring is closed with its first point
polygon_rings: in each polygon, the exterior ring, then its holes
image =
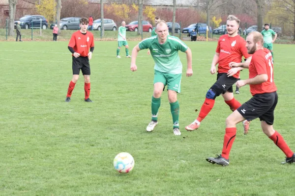
{"type": "Polygon", "coordinates": [[[73,75],[79,75],[80,70],[82,70],[83,75],[90,75],[90,65],[88,56],[79,56],[78,58],[75,58],[75,56],[73,56],[72,69],[73,75]]]}

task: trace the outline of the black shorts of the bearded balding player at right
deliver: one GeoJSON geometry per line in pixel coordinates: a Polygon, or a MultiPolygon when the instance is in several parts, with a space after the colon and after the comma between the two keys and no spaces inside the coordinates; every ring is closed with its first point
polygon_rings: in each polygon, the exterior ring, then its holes
{"type": "Polygon", "coordinates": [[[276,92],[257,94],[237,108],[237,111],[247,121],[259,118],[260,121],[272,125],[274,120],[273,112],[277,102],[278,94],[276,92]]]}

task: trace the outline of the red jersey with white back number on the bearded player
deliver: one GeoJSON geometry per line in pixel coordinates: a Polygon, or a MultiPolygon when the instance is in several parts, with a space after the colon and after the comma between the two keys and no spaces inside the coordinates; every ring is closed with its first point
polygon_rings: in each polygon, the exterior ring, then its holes
{"type": "Polygon", "coordinates": [[[260,74],[267,74],[268,79],[261,84],[250,84],[250,92],[252,96],[275,92],[277,88],[273,81],[272,56],[268,49],[257,50],[253,54],[249,65],[249,78],[253,78],[260,74]]]}

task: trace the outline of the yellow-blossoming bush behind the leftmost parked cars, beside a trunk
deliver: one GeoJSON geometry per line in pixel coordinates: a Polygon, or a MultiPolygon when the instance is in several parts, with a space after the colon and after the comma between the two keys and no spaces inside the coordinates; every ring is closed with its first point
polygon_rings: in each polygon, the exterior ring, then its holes
{"type": "Polygon", "coordinates": [[[57,3],[55,0],[40,0],[40,4],[36,2],[37,12],[44,16],[48,21],[54,21],[55,9],[57,3]]]}

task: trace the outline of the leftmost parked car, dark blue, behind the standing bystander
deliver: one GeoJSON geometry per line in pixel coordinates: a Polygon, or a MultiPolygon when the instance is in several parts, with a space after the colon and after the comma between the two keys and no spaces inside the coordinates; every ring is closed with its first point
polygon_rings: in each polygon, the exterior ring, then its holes
{"type": "MultiPolygon", "coordinates": [[[[21,28],[25,28],[25,29],[28,29],[31,27],[40,28],[40,25],[42,29],[46,29],[48,26],[48,21],[45,19],[44,16],[40,16],[40,15],[26,15],[20,18],[20,20],[18,21],[20,22],[21,28]]],[[[14,21],[14,27],[16,27],[16,24],[18,21],[14,21]]]]}

